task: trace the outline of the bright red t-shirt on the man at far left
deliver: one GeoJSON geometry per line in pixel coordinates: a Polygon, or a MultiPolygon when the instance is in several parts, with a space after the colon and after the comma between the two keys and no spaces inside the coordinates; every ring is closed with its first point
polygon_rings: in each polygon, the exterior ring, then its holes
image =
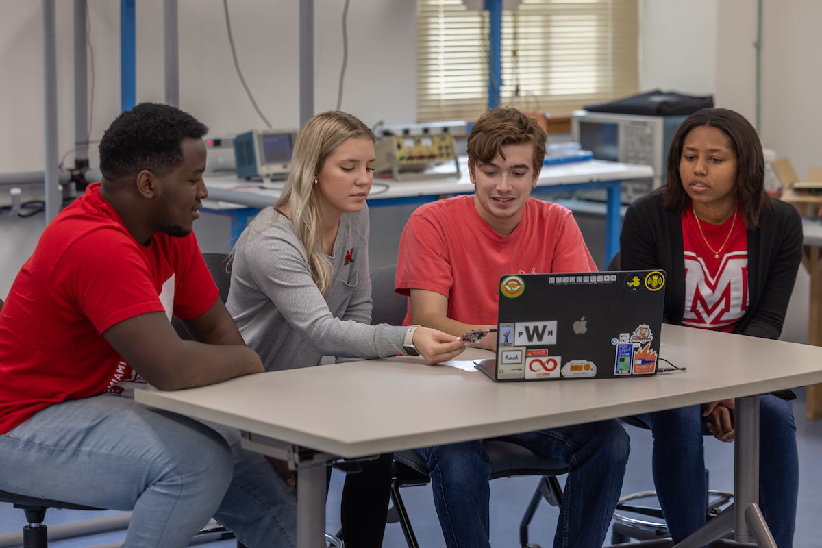
{"type": "Polygon", "coordinates": [[[193,318],[218,297],[193,233],[142,246],[91,185],[45,229],[0,311],[0,433],[54,403],[144,383],[103,332],[148,312],[193,318]]]}

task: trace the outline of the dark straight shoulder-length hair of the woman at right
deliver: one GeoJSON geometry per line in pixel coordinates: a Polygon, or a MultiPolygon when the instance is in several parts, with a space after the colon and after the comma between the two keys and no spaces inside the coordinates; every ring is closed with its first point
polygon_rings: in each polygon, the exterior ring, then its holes
{"type": "Polygon", "coordinates": [[[691,130],[703,126],[716,127],[730,141],[733,153],[737,154],[737,182],[734,190],[742,199],[742,219],[745,219],[750,228],[759,227],[762,210],[774,202],[764,188],[765,160],[762,143],[750,122],[740,113],[727,108],[702,108],[681,123],[671,142],[671,149],[668,150],[665,166],[667,184],[659,189],[663,194],[663,205],[667,210],[679,214],[685,213],[690,205],[690,197],[682,187],[679,163],[686,137],[691,130]]]}

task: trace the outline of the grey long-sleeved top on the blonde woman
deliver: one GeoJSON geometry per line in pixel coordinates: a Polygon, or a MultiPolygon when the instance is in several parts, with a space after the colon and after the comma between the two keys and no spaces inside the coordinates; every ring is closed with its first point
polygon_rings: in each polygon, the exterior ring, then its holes
{"type": "Polygon", "coordinates": [[[339,219],[328,300],[312,280],[291,221],[262,210],[234,249],[226,306],[266,371],[317,366],[324,355],[402,353],[407,327],[369,325],[368,208],[339,219]]]}

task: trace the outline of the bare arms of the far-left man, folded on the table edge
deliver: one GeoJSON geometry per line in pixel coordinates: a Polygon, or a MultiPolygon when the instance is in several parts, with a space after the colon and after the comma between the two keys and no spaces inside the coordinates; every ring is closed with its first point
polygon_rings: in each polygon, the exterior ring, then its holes
{"type": "Polygon", "coordinates": [[[213,385],[250,373],[262,373],[260,357],[245,346],[236,325],[235,335],[224,321],[219,321],[220,315],[228,311],[219,299],[217,302],[219,305],[215,303],[205,314],[188,322],[195,326],[197,338],[222,343],[182,340],[164,312],[122,320],[106,329],[103,336],[141,377],[162,390],[213,385]],[[237,338],[236,343],[231,343],[237,338]]]}

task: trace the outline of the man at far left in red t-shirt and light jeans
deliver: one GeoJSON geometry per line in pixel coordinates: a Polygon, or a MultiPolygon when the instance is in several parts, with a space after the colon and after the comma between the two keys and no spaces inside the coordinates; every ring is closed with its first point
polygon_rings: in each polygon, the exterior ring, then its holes
{"type": "Polygon", "coordinates": [[[237,431],[132,398],[263,371],[192,233],[206,131],[162,104],[120,114],[100,141],[103,181],[17,275],[0,311],[0,489],[133,510],[130,548],[187,546],[212,516],[245,544],[293,546],[293,490],[237,431]]]}

